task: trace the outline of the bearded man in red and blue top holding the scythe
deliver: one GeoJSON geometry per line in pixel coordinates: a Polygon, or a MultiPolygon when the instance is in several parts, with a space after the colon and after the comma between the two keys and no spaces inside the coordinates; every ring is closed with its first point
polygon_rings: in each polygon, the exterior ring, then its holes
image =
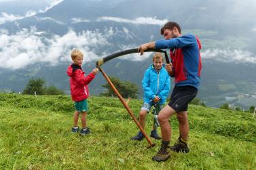
{"type": "Polygon", "coordinates": [[[170,102],[158,114],[162,131],[162,147],[153,156],[154,161],[166,161],[170,150],[189,152],[187,146],[189,123],[187,119],[188,103],[196,97],[201,75],[201,44],[199,39],[191,34],[181,35],[181,27],[176,22],[167,22],[161,28],[163,40],[145,43],[139,47],[141,55],[146,49],[170,49],[172,64],[166,64],[170,77],[175,77],[175,87],[170,96],[170,102]],[[171,128],[168,120],[177,113],[180,137],[172,147],[169,147],[171,128]]]}

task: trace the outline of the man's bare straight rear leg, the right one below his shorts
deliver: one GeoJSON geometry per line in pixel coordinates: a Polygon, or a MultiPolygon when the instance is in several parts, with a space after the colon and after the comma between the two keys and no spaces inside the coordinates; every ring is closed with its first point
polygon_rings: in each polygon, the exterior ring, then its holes
{"type": "Polygon", "coordinates": [[[187,119],[187,111],[179,112],[177,114],[177,119],[179,121],[179,135],[184,140],[188,140],[189,121],[187,119]]]}

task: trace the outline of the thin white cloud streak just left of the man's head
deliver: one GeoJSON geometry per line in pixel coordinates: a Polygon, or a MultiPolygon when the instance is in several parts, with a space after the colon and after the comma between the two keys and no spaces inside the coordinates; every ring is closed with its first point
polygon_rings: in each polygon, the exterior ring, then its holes
{"type": "Polygon", "coordinates": [[[153,25],[163,25],[166,22],[168,22],[167,19],[164,20],[158,20],[156,17],[139,17],[135,18],[134,20],[129,20],[125,18],[117,18],[117,17],[111,17],[111,16],[103,16],[98,18],[97,21],[114,21],[114,22],[125,22],[125,23],[131,23],[131,24],[153,24],[153,25]]]}

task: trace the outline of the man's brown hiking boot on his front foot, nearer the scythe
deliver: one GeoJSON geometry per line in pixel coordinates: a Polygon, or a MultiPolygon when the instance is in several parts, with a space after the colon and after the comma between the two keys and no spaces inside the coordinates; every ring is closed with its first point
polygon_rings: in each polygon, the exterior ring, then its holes
{"type": "Polygon", "coordinates": [[[166,161],[168,158],[170,158],[170,147],[168,144],[170,141],[162,141],[162,145],[158,153],[152,157],[153,161],[166,161]]]}

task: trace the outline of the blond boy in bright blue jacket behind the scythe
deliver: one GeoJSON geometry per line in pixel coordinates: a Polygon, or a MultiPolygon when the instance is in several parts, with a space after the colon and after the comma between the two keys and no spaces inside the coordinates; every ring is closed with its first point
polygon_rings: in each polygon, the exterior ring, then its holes
{"type": "MultiPolygon", "coordinates": [[[[143,106],[141,107],[141,112],[139,114],[139,123],[144,129],[145,118],[151,106],[158,103],[160,104],[160,108],[162,108],[170,91],[170,76],[164,68],[164,58],[162,54],[156,53],[153,56],[153,64],[145,71],[142,86],[144,90],[144,98],[143,106]]],[[[150,136],[157,140],[161,139],[154,125],[150,136]]],[[[141,131],[134,137],[131,137],[131,140],[141,141],[143,139],[144,135],[141,131]]]]}

